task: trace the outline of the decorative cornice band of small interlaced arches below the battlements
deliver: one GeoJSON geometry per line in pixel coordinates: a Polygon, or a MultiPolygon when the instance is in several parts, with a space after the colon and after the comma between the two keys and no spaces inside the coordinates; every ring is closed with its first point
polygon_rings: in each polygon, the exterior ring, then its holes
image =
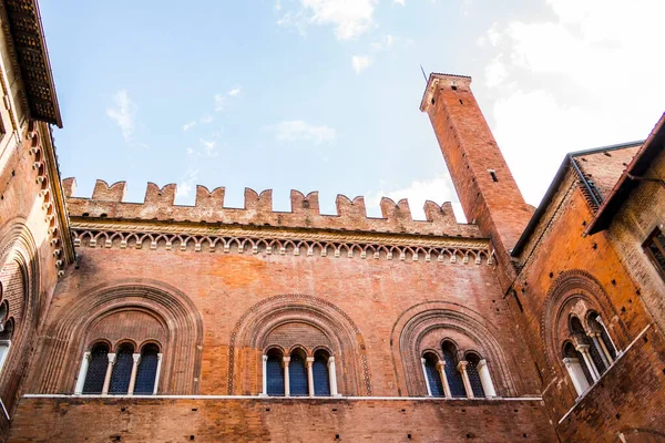
{"type": "Polygon", "coordinates": [[[74,246],[487,262],[483,238],[72,217],[74,246]]]}

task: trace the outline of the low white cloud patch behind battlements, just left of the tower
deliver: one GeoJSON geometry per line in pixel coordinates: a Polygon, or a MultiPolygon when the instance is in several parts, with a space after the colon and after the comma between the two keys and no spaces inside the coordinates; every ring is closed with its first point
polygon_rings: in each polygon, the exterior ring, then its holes
{"type": "Polygon", "coordinates": [[[461,205],[457,202],[457,194],[452,188],[450,177],[437,177],[430,181],[415,181],[408,187],[390,192],[369,192],[366,195],[368,214],[379,216],[381,197],[391,198],[395,203],[402,198],[409,199],[409,208],[413,219],[424,220],[424,202],[432,200],[439,205],[444,202],[454,202],[452,204],[454,214],[460,223],[466,223],[461,205]]]}

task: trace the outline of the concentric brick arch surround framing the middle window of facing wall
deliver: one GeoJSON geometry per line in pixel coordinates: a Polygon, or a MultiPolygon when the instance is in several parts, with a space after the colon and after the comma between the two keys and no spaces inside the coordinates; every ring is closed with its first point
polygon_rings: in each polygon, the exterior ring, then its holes
{"type": "MultiPolygon", "coordinates": [[[[371,395],[371,382],[365,339],[340,308],[331,302],[301,293],[270,297],[254,305],[238,319],[231,333],[228,394],[253,393],[252,377],[259,373],[260,356],[276,343],[267,339],[276,328],[288,323],[306,324],[327,340],[325,349],[335,356],[341,378],[339,392],[371,395]]],[[[288,352],[294,348],[289,346],[288,352]]],[[[254,378],[257,380],[257,378],[254,378]]],[[[255,387],[254,387],[255,388],[255,387]]]]}

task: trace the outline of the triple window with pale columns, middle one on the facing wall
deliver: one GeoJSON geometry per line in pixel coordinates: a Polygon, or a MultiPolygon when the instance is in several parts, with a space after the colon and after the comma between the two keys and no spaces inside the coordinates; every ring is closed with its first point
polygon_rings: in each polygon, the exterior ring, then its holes
{"type": "Polygon", "coordinates": [[[272,346],[263,356],[263,391],[268,396],[338,395],[335,358],[325,348],[272,346]]]}

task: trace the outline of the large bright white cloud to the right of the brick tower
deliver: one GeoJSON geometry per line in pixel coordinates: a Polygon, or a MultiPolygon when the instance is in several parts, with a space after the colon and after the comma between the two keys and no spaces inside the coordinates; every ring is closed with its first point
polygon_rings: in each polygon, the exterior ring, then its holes
{"type": "Polygon", "coordinates": [[[546,2],[552,20],[495,23],[487,33],[493,133],[531,204],[566,152],[645,138],[665,103],[653,33],[665,2],[546,2]]]}

